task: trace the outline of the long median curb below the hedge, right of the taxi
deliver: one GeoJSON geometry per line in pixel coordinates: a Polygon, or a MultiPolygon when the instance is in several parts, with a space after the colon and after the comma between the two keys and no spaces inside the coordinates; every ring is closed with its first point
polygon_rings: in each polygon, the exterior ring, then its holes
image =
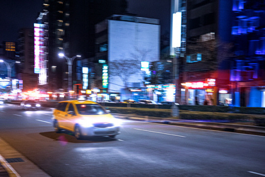
{"type": "Polygon", "coordinates": [[[238,125],[236,124],[236,122],[235,124],[228,124],[228,123],[205,122],[198,120],[156,118],[156,117],[134,116],[134,115],[123,115],[123,114],[112,114],[112,115],[116,118],[122,118],[122,119],[265,136],[265,127],[238,125]]]}

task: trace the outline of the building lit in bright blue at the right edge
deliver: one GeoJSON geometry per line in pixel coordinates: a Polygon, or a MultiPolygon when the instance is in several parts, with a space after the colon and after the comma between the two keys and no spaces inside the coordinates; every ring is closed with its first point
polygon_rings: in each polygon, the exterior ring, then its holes
{"type": "Polygon", "coordinates": [[[265,107],[265,2],[233,0],[232,105],[265,107]]]}

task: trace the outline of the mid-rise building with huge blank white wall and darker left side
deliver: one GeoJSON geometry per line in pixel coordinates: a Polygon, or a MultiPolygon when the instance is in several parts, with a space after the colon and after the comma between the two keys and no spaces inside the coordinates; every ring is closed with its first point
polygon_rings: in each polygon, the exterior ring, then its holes
{"type": "Polygon", "coordinates": [[[96,25],[96,36],[95,60],[102,63],[96,88],[121,93],[121,100],[144,93],[149,63],[159,60],[159,20],[112,15],[96,25]]]}

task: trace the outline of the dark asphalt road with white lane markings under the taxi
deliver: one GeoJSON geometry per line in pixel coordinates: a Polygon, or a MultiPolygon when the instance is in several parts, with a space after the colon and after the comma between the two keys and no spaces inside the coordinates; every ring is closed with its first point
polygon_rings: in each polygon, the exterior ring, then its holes
{"type": "Polygon", "coordinates": [[[265,137],[124,120],[116,139],[56,134],[52,111],[0,106],[0,137],[52,177],[262,177],[265,137]]]}

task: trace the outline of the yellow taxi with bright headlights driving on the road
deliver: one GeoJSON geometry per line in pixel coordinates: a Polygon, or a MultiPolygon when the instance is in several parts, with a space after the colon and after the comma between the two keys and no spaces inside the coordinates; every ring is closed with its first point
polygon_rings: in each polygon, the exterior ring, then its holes
{"type": "Polygon", "coordinates": [[[114,138],[120,134],[120,120],[93,101],[59,102],[53,110],[53,127],[56,133],[63,129],[72,131],[77,139],[83,139],[85,136],[114,138]]]}

